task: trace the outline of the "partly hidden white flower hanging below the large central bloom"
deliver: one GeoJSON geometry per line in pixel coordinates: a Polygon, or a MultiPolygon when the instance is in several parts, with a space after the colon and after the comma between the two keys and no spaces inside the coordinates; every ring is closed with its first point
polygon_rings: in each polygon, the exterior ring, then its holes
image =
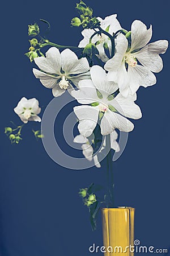
{"type": "MultiPolygon", "coordinates": [[[[113,133],[111,133],[111,148],[113,148],[114,151],[118,152],[120,151],[120,147],[118,146],[118,143],[116,141],[116,139],[118,138],[118,134],[117,132],[114,130],[113,133]]],[[[97,168],[100,168],[101,165],[99,163],[99,159],[97,157],[97,154],[101,153],[104,148],[107,146],[106,145],[106,138],[104,138],[104,141],[103,141],[103,145],[101,146],[100,148],[100,151],[92,156],[94,154],[94,149],[93,147],[91,146],[89,140],[85,137],[83,137],[83,135],[77,135],[75,138],[74,138],[74,142],[75,143],[80,143],[82,144],[82,150],[83,150],[83,155],[85,156],[85,158],[89,161],[92,161],[94,160],[94,164],[97,168]]]]}

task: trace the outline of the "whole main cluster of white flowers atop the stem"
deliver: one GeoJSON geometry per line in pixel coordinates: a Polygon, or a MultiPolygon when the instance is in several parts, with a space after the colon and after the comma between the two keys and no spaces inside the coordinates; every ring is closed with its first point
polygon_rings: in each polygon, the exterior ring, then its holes
{"type": "MultiPolygon", "coordinates": [[[[86,13],[91,10],[82,1],[77,9],[86,13]]],[[[78,49],[82,49],[79,57],[70,47],[61,52],[59,47],[51,47],[45,56],[34,58],[40,70],[33,68],[33,74],[42,85],[52,89],[54,97],[68,90],[80,104],[74,107],[80,133],[74,142],[82,144],[83,155],[87,160],[94,160],[97,167],[100,163],[94,154],[95,143],[89,141],[93,133],[97,139],[97,124],[101,135],[110,136],[111,145],[118,137],[115,129],[124,132],[134,129],[127,118],[142,117],[141,109],[135,104],[137,90],[139,86],[156,84],[153,72],[162,70],[159,55],[168,47],[167,40],[148,44],[152,26],[147,29],[140,20],[134,20],[128,32],[116,17],[116,14],[105,19],[98,17],[100,26],[95,32],[91,28],[82,31],[84,38],[78,45],[78,49]],[[101,60],[101,65],[96,65],[95,58],[101,60]]],[[[105,140],[99,152],[104,147],[107,147],[105,140]]],[[[111,148],[118,151],[117,147],[111,148]]]]}

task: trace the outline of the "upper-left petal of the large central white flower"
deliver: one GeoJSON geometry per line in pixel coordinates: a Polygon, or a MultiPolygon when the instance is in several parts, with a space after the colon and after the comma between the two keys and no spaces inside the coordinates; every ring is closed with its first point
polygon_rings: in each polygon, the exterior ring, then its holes
{"type": "Polygon", "coordinates": [[[79,82],[79,90],[74,90],[71,95],[76,98],[80,104],[91,104],[99,101],[96,88],[92,80],[82,80],[79,82]]]}

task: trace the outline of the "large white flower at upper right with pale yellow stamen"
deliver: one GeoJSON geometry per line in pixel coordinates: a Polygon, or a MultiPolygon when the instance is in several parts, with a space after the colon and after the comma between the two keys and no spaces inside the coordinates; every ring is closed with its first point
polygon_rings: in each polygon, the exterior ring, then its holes
{"type": "Polygon", "coordinates": [[[140,20],[131,24],[131,46],[124,35],[117,36],[116,54],[107,61],[104,68],[109,71],[108,80],[118,83],[120,92],[126,97],[137,92],[139,86],[156,84],[152,72],[160,72],[163,68],[162,58],[168,47],[167,40],[159,40],[147,44],[152,36],[152,26],[147,27],[140,20]]]}

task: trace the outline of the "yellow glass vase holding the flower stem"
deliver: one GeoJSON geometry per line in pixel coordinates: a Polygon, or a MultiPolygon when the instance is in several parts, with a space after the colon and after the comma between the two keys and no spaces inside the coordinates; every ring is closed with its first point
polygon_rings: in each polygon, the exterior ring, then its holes
{"type": "Polygon", "coordinates": [[[134,208],[102,208],[105,256],[133,256],[134,208]]]}

